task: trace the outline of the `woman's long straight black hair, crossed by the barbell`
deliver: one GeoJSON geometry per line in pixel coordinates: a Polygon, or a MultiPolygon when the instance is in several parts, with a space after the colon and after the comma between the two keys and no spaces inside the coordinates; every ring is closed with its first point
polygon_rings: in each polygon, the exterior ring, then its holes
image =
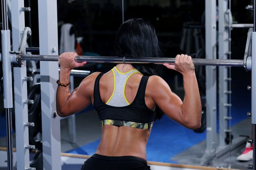
{"type": "MultiPolygon", "coordinates": [[[[132,18],[124,22],[117,32],[115,51],[118,57],[163,57],[158,46],[155,28],[149,21],[132,18]]],[[[132,66],[143,75],[159,75],[161,70],[158,64],[137,64],[132,66]]],[[[159,107],[156,107],[157,118],[163,116],[159,107]]]]}

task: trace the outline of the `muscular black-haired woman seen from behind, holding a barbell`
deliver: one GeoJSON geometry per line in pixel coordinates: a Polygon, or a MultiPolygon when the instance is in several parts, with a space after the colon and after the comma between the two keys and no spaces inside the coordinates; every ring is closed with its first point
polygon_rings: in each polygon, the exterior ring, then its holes
{"type": "MultiPolygon", "coordinates": [[[[119,57],[162,56],[155,29],[142,19],[130,19],[120,26],[115,50],[119,57]]],[[[70,71],[86,64],[75,62],[76,56],[74,52],[60,55],[59,83],[67,84],[70,71]]],[[[107,73],[92,73],[71,94],[68,86],[58,86],[59,116],[70,116],[92,103],[102,122],[101,142],[82,170],[150,170],[146,144],[154,121],[163,113],[187,128],[201,126],[200,95],[191,57],[177,55],[175,64],[164,66],[183,75],[183,101],[157,76],[155,64],[117,64],[107,73]]]]}

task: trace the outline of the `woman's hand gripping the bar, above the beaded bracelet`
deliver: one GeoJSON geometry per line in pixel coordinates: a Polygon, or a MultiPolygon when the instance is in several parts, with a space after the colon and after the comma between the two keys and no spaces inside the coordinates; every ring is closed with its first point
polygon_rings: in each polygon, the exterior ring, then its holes
{"type": "Polygon", "coordinates": [[[76,67],[81,67],[86,64],[86,62],[76,62],[74,58],[77,56],[75,52],[62,53],[58,58],[58,63],[61,69],[72,70],[76,67]]]}

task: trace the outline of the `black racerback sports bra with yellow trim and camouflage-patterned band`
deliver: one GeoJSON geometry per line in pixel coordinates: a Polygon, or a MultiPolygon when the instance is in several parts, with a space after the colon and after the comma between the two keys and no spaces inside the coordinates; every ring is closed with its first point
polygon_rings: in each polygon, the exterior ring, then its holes
{"type": "MultiPolygon", "coordinates": [[[[108,102],[104,103],[101,99],[100,93],[99,93],[99,80],[103,73],[100,73],[94,84],[94,108],[98,113],[99,119],[101,120],[101,124],[103,125],[113,125],[113,126],[128,126],[132,128],[140,128],[140,129],[149,129],[152,128],[154,121],[157,119],[157,115],[155,110],[150,110],[145,103],[145,91],[146,91],[146,85],[148,82],[148,76],[142,76],[141,81],[139,83],[139,88],[137,91],[137,94],[135,96],[135,99],[130,104],[127,100],[125,100],[126,106],[111,106],[109,105],[112,101],[112,97],[115,95],[115,90],[117,87],[118,82],[120,82],[120,78],[116,79],[116,71],[117,68],[113,68],[112,72],[114,75],[114,90],[113,93],[108,100],[108,102]],[[114,70],[114,71],[113,71],[114,70]]],[[[133,74],[129,71],[127,73],[119,73],[123,74],[123,76],[126,76],[126,74],[133,74]]],[[[137,72],[137,71],[135,71],[137,72]]],[[[122,77],[122,76],[121,76],[122,77]]],[[[128,75],[127,79],[130,76],[128,75]]],[[[125,81],[125,84],[126,84],[125,81]]],[[[124,84],[124,89],[125,89],[124,84]]],[[[123,93],[124,94],[124,93],[123,93]]],[[[122,94],[121,94],[122,95],[122,94]]],[[[121,96],[119,94],[119,96],[121,96]]],[[[125,95],[124,95],[125,98],[125,95]]],[[[120,100],[121,97],[120,97],[120,100]]],[[[124,104],[124,102],[121,102],[124,104]]]]}

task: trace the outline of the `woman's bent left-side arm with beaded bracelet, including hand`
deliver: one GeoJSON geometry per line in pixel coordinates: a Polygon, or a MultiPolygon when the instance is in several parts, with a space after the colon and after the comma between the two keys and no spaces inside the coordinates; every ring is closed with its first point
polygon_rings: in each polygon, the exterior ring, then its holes
{"type": "MultiPolygon", "coordinates": [[[[83,66],[86,62],[75,62],[74,57],[77,54],[74,52],[63,53],[60,55],[58,62],[61,66],[59,82],[67,84],[69,82],[70,71],[73,68],[83,66]]],[[[90,76],[91,77],[91,76],[90,76]]],[[[72,93],[69,92],[69,86],[58,86],[56,92],[56,108],[57,114],[61,117],[72,115],[83,110],[90,104],[91,81],[89,76],[86,77],[78,88],[72,93]]]]}

